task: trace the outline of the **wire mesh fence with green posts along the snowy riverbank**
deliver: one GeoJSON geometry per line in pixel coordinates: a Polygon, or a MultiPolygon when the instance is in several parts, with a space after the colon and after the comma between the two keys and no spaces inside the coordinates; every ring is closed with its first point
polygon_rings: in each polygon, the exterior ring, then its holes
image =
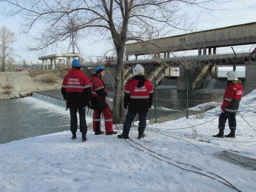
{"type": "MultiPolygon", "coordinates": [[[[226,89],[226,74],[228,71],[233,71],[233,65],[219,67],[217,77],[206,79],[203,89],[188,91],[188,95],[186,95],[186,91],[173,91],[177,89],[174,85],[173,90],[170,89],[167,92],[169,97],[164,96],[163,98],[164,86],[161,88],[161,84],[158,85],[156,91],[154,90],[156,92],[155,101],[153,101],[153,105],[154,102],[156,103],[156,107],[153,106],[155,108],[155,118],[149,118],[150,123],[162,123],[182,117],[187,118],[187,116],[188,118],[203,118],[209,115],[219,115],[226,89]],[[173,97],[172,94],[177,94],[177,96],[173,97]],[[188,97],[188,111],[184,107],[187,105],[186,97],[188,97]],[[169,113],[163,114],[161,112],[162,100],[164,100],[165,105],[171,106],[168,107],[169,113]],[[180,106],[180,110],[177,110],[176,105],[180,106]]],[[[247,62],[243,66],[236,66],[236,73],[238,79],[242,80],[241,84],[244,89],[240,109],[256,110],[256,62],[247,62]]]]}

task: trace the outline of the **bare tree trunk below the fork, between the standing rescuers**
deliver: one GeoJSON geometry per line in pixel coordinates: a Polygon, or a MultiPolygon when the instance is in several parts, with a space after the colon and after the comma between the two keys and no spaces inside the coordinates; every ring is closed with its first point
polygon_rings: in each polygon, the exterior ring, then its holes
{"type": "Polygon", "coordinates": [[[123,54],[117,54],[116,78],[115,78],[115,96],[113,100],[113,120],[114,123],[124,122],[124,64],[123,54]]]}

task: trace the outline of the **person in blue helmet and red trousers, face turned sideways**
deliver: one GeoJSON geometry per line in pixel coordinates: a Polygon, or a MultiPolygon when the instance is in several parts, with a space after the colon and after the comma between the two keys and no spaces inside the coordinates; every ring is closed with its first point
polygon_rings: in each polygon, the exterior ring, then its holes
{"type": "Polygon", "coordinates": [[[108,96],[108,92],[105,90],[105,83],[101,79],[105,76],[105,68],[103,66],[97,66],[95,68],[95,74],[91,75],[90,83],[92,89],[92,101],[91,101],[91,109],[93,109],[93,120],[92,126],[94,135],[101,135],[105,132],[101,131],[101,113],[103,113],[105,118],[105,131],[106,135],[113,135],[117,132],[113,131],[113,122],[112,122],[112,114],[110,112],[110,107],[106,101],[106,97],[108,96]]]}

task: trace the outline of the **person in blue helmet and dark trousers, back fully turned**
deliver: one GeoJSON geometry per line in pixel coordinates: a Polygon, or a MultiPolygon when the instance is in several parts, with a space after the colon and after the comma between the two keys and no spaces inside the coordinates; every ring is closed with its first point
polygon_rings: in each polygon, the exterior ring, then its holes
{"type": "Polygon", "coordinates": [[[80,132],[82,133],[82,141],[87,140],[87,123],[85,119],[85,107],[91,107],[92,92],[88,77],[80,70],[80,61],[73,60],[72,69],[64,77],[61,87],[61,93],[64,100],[67,101],[66,107],[70,112],[70,131],[71,139],[76,140],[77,132],[77,111],[80,120],[80,132]]]}

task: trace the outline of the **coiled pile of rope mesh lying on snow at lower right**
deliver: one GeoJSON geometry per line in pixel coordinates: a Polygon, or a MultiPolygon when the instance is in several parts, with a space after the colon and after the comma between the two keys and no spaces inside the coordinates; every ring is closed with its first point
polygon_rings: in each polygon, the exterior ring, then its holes
{"type": "Polygon", "coordinates": [[[256,159],[254,158],[238,155],[229,151],[220,151],[214,155],[231,164],[242,165],[244,168],[256,170],[256,159]]]}

